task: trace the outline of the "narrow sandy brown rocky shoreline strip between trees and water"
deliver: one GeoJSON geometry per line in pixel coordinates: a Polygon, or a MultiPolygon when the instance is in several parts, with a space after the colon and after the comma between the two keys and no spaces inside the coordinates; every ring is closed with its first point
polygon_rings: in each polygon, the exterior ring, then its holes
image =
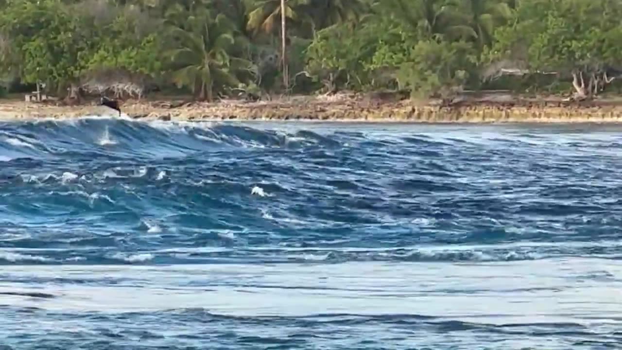
{"type": "MultiPolygon", "coordinates": [[[[183,100],[128,100],[121,105],[126,118],[161,121],[321,121],[358,123],[498,124],[498,123],[622,123],[622,98],[565,102],[562,98],[524,98],[514,95],[463,97],[452,105],[399,98],[333,95],[287,97],[279,100],[214,103],[183,100]]],[[[67,106],[0,100],[0,120],[65,120],[86,116],[118,116],[97,102],[67,106]]]]}

